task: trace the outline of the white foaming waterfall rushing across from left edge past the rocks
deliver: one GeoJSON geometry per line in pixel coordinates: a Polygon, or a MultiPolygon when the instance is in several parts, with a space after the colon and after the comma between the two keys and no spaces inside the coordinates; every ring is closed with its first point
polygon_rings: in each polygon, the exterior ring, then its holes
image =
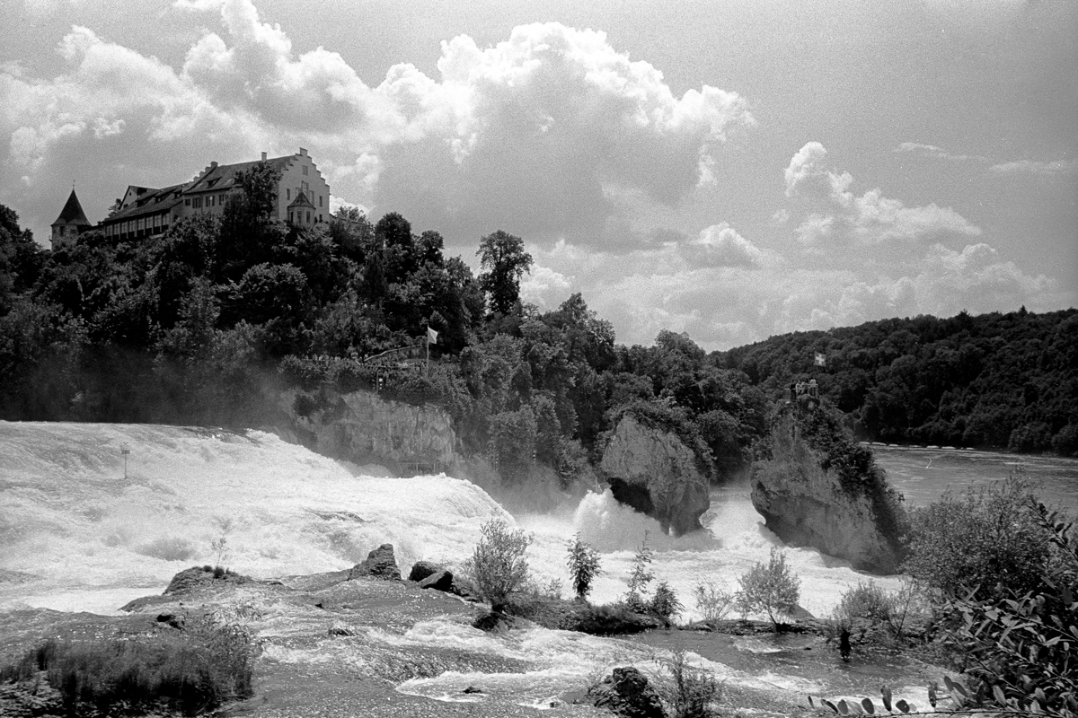
{"type": "MultiPolygon", "coordinates": [[[[733,590],[782,546],[747,488],[716,492],[708,531],[674,538],[609,493],[590,493],[562,516],[514,518],[468,481],[363,476],[261,432],[0,422],[0,610],[114,613],[161,592],[178,571],[218,563],[212,545],[222,537],[222,563],[257,578],[347,568],[383,543],[393,545],[405,573],[419,559],[459,566],[495,517],[534,534],[528,558],[541,583],[557,578],[568,587],[566,541],[579,532],[602,552],[595,603],[624,594],[648,532],[657,578],[686,604],[681,620],[695,618],[694,586],[733,590]]],[[[786,552],[801,578],[801,604],[816,616],[869,578],[815,550],[786,552]]],[[[897,586],[897,578],[875,580],[897,586]]]]}

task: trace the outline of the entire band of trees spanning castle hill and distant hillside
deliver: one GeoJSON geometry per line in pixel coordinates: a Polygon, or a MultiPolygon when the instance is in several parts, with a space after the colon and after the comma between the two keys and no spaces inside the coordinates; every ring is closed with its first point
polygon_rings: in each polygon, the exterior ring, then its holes
{"type": "Polygon", "coordinates": [[[331,389],[377,389],[443,406],[506,480],[589,474],[626,412],[722,480],[760,450],[787,385],[815,378],[866,437],[1078,450],[1075,310],[886,320],[729,352],[665,330],[625,347],[579,294],[545,312],[521,301],[519,237],[480,238],[474,274],[398,213],[292,227],[270,219],[272,168],[241,180],[219,216],[52,252],[0,206],[0,419],[263,426],[285,388],[304,390],[301,413],[331,389]],[[372,363],[428,328],[429,370],[372,363]]]}

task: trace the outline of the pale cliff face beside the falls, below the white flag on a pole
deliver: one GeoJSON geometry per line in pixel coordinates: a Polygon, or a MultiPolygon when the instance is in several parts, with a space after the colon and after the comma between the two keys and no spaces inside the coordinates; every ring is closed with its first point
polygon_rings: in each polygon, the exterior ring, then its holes
{"type": "Polygon", "coordinates": [[[402,474],[445,470],[457,457],[453,422],[436,407],[327,389],[281,392],[278,406],[299,441],[327,456],[382,464],[402,474]]]}

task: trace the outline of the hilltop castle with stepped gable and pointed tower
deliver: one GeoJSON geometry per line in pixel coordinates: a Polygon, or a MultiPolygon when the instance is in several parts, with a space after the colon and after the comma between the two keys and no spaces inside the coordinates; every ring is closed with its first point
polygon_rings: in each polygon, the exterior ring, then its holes
{"type": "MultiPolygon", "coordinates": [[[[166,231],[182,217],[198,212],[220,214],[227,198],[240,192],[237,174],[251,169],[260,161],[280,171],[277,182],[277,200],[271,216],[293,225],[310,226],[329,216],[330,185],[303,147],[294,155],[218,165],[210,163],[193,180],[184,184],[153,188],[129,185],[109,216],[97,228],[106,237],[120,240],[153,237],[166,231]]],[[[60,215],[53,223],[53,250],[74,244],[79,235],[91,229],[79,198],[71,196],[60,215]]]]}

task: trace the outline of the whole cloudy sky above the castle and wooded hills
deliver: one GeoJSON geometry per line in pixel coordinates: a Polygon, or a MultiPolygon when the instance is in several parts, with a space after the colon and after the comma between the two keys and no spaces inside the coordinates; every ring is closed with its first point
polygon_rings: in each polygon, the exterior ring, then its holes
{"type": "Polygon", "coordinates": [[[1069,0],[0,0],[0,203],[306,147],[619,342],[1078,301],[1069,0]]]}

